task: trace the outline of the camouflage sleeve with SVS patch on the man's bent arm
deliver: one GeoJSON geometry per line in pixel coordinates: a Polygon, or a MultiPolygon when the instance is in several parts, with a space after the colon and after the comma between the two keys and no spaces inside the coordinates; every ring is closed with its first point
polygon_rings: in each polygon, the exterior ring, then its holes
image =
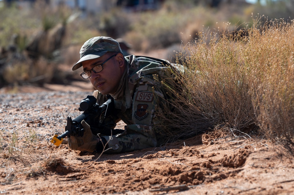
{"type": "Polygon", "coordinates": [[[110,139],[108,147],[111,149],[107,152],[129,152],[163,144],[164,139],[157,126],[160,119],[155,114],[163,106],[168,106],[168,102],[161,85],[150,81],[141,82],[133,96],[133,124],[126,125],[124,133],[103,137],[106,142],[110,139]]]}

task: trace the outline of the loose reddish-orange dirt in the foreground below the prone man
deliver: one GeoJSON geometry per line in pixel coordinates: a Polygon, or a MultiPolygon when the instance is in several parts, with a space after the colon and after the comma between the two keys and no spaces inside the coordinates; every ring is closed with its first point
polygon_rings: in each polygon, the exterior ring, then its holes
{"type": "MultiPolygon", "coordinates": [[[[62,107],[47,109],[47,115],[62,107]]],[[[17,113],[12,109],[12,115],[17,113]]],[[[22,110],[22,113],[29,110],[22,110]]],[[[5,118],[5,113],[0,113],[5,118]]],[[[40,131],[33,121],[27,128],[40,131]]],[[[65,123],[65,122],[64,122],[65,123]]],[[[60,128],[65,124],[60,124],[60,128]]],[[[12,126],[13,124],[11,124],[12,126]]],[[[122,128],[120,123],[118,128],[122,128]]],[[[59,126],[58,126],[59,127],[59,126]]],[[[53,135],[51,128],[43,135],[53,135]]],[[[47,136],[51,138],[50,136],[47,136]]],[[[5,136],[4,136],[4,139],[5,136]]],[[[122,154],[93,154],[40,141],[31,153],[1,153],[0,188],[6,194],[294,194],[293,157],[260,138],[221,130],[122,154]]]]}

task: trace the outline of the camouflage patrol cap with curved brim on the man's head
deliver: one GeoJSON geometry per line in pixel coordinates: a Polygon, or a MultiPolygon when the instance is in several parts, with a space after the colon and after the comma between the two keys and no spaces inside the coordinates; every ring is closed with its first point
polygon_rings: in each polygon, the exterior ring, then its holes
{"type": "Polygon", "coordinates": [[[87,40],[80,50],[80,60],[72,67],[72,70],[82,67],[83,61],[101,57],[107,52],[122,53],[122,49],[119,43],[110,37],[93,37],[87,40]]]}

